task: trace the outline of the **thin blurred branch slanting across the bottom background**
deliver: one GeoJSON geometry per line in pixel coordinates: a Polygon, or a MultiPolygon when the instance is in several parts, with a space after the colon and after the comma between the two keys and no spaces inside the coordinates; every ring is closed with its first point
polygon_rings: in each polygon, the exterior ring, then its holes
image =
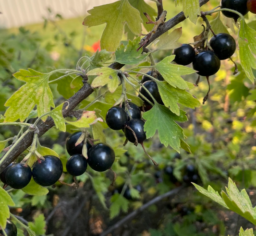
{"type": "Polygon", "coordinates": [[[146,204],[144,204],[142,207],[138,208],[137,210],[135,210],[134,212],[131,212],[130,214],[126,215],[124,218],[122,218],[122,220],[118,221],[116,224],[110,226],[106,231],[104,231],[100,236],[107,236],[108,234],[110,234],[111,232],[113,232],[115,229],[119,228],[120,226],[122,226],[123,224],[127,223],[128,221],[134,219],[134,217],[139,214],[140,212],[143,212],[144,210],[146,210],[146,208],[148,208],[149,206],[156,204],[157,202],[163,200],[164,198],[170,197],[176,193],[178,193],[181,189],[183,189],[184,187],[178,187],[175,189],[172,189],[171,191],[162,194],[154,199],[152,199],[151,201],[148,201],[146,204]]]}

